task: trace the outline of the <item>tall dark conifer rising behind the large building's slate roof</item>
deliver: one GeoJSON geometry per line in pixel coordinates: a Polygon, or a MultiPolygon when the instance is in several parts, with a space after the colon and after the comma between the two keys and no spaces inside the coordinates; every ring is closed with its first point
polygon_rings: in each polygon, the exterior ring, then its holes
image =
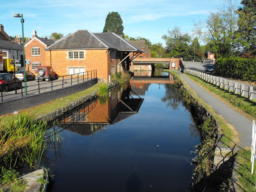
{"type": "Polygon", "coordinates": [[[109,12],[106,17],[103,33],[113,32],[117,35],[124,37],[123,30],[124,26],[120,14],[118,14],[118,12],[109,12]]]}

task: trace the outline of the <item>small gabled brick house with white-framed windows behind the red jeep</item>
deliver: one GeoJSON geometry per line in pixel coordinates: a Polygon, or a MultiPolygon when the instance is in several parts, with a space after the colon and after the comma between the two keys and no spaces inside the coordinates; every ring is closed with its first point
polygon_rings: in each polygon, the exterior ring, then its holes
{"type": "Polygon", "coordinates": [[[45,48],[54,44],[53,40],[47,38],[40,38],[36,34],[36,30],[33,30],[32,39],[25,44],[25,56],[29,59],[31,64],[28,65],[28,70],[34,72],[36,66],[46,65],[46,51],[45,48]]]}

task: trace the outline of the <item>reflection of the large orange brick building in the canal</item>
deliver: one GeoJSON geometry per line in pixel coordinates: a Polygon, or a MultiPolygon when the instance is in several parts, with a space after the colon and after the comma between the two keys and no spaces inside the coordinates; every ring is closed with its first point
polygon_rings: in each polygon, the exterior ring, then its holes
{"type": "Polygon", "coordinates": [[[143,98],[137,95],[137,98],[130,96],[130,86],[119,90],[102,101],[94,100],[90,104],[82,106],[76,112],[73,112],[67,118],[64,118],[60,124],[65,124],[68,130],[80,132],[80,128],[86,128],[82,132],[90,133],[92,124],[115,124],[129,116],[138,113],[143,98]],[[87,124],[87,125],[86,125],[87,124]]]}

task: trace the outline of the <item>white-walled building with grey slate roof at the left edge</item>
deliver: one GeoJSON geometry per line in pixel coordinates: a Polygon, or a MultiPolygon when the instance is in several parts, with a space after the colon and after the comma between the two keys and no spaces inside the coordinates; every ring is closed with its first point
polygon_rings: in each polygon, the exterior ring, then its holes
{"type": "MultiPolygon", "coordinates": [[[[16,66],[23,64],[23,47],[22,45],[6,40],[0,40],[0,71],[13,72],[13,58],[18,60],[16,66]],[[1,54],[2,52],[2,54],[1,54]]],[[[15,69],[17,70],[17,68],[15,69]]]]}

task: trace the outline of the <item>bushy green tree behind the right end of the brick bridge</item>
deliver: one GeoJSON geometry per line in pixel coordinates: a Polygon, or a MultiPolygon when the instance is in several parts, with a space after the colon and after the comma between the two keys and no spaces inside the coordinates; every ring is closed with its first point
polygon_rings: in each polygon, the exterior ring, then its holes
{"type": "Polygon", "coordinates": [[[166,56],[175,58],[191,58],[189,44],[191,37],[188,33],[180,32],[180,28],[175,26],[168,34],[162,36],[166,43],[166,56]]]}

